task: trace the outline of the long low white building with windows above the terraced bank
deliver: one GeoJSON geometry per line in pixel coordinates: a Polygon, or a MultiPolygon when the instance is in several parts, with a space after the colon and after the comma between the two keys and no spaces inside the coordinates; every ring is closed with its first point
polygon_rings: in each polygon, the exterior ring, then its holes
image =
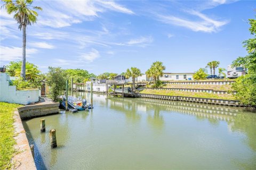
{"type": "Polygon", "coordinates": [[[194,73],[164,73],[163,77],[159,77],[161,81],[179,81],[193,80],[194,73]]]}

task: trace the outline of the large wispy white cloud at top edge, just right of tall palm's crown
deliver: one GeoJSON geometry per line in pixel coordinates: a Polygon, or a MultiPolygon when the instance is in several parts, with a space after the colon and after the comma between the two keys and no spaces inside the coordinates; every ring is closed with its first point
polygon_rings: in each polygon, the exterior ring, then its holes
{"type": "Polygon", "coordinates": [[[91,21],[107,10],[133,14],[131,10],[113,1],[41,1],[44,12],[38,24],[52,28],[68,27],[74,23],[91,21]],[[57,10],[58,9],[58,10],[57,10]]]}

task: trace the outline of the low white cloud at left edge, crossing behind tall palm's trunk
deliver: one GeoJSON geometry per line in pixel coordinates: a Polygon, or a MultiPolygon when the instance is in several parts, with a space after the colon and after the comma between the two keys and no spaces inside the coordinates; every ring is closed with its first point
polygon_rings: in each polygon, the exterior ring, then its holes
{"type": "MultiPolygon", "coordinates": [[[[1,46],[1,61],[14,61],[21,60],[22,58],[22,48],[21,47],[5,47],[1,46]]],[[[26,49],[26,57],[30,57],[31,54],[37,53],[35,48],[26,49]]]]}

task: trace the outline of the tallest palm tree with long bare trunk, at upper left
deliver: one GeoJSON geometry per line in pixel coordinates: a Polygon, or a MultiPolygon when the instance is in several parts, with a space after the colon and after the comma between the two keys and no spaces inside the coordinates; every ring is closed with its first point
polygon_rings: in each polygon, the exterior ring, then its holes
{"type": "Polygon", "coordinates": [[[33,0],[2,0],[8,14],[15,13],[13,18],[19,23],[19,29],[22,29],[22,38],[23,38],[23,46],[22,46],[22,65],[20,76],[22,79],[26,79],[26,27],[27,25],[31,25],[31,23],[36,23],[37,20],[37,12],[34,10],[42,11],[41,7],[31,6],[34,2],[33,0]],[[33,8],[34,10],[31,10],[33,8]]]}

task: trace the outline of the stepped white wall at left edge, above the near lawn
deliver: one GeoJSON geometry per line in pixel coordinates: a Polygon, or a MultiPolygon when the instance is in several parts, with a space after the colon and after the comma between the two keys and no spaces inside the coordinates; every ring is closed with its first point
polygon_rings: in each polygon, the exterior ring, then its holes
{"type": "Polygon", "coordinates": [[[16,90],[16,86],[9,86],[10,76],[0,73],[0,101],[28,105],[39,100],[39,89],[16,90]]]}

